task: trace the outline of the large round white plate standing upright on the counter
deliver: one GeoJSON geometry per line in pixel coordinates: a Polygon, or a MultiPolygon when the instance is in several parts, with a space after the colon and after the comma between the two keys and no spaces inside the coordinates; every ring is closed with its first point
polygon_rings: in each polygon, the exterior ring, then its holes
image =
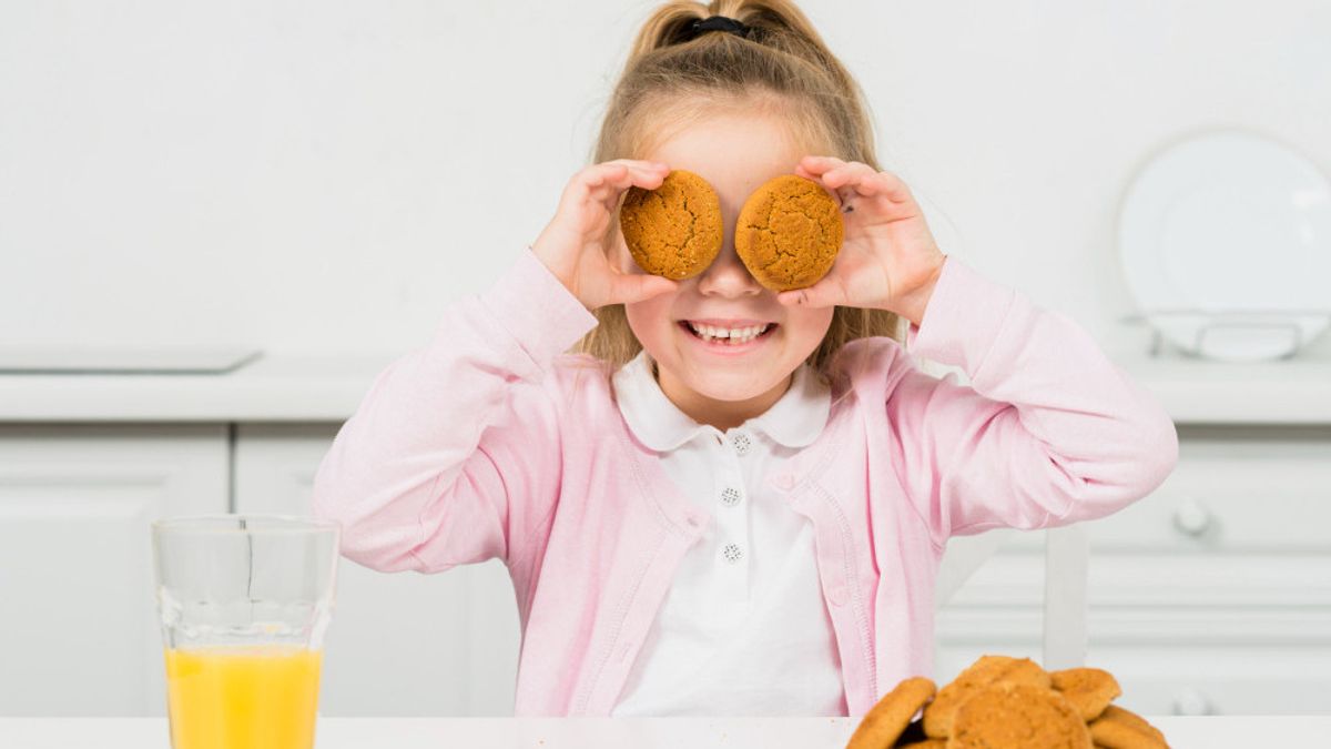
{"type": "Polygon", "coordinates": [[[1151,159],[1118,248],[1147,321],[1190,353],[1288,356],[1331,323],[1331,183],[1260,136],[1206,133],[1151,159]]]}

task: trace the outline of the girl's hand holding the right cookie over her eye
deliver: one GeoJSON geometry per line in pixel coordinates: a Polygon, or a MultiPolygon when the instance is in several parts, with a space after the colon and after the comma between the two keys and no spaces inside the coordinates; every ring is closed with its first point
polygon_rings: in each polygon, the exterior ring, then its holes
{"type": "Polygon", "coordinates": [[[781,304],[886,309],[918,325],[945,256],[906,184],[831,156],[805,156],[795,173],[840,197],[845,239],[832,271],[807,289],[781,292],[781,304]]]}

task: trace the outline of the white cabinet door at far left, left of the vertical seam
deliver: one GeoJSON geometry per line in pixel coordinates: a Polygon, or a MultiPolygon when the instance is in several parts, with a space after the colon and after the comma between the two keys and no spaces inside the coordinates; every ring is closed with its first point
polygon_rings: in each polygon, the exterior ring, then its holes
{"type": "Polygon", "coordinates": [[[165,714],[149,522],[226,485],[222,425],[0,425],[0,714],[165,714]]]}

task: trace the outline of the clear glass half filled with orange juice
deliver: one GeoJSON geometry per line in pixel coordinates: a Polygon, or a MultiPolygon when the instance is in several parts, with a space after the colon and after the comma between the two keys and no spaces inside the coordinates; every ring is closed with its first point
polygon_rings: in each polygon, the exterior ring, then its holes
{"type": "Polygon", "coordinates": [[[311,749],[339,526],[217,514],[152,526],[173,749],[311,749]]]}

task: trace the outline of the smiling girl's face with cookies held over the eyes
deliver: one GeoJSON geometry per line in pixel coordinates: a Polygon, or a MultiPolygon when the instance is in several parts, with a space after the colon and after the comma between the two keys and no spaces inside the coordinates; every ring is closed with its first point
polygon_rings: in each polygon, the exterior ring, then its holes
{"type": "MultiPolygon", "coordinates": [[[[735,220],[744,200],[767,180],[792,173],[805,156],[788,127],[769,115],[717,115],[691,123],[639,157],[688,169],[707,180],[721,199],[725,237],[703,273],[680,281],[675,292],[627,304],[628,324],[660,365],[660,384],[680,402],[699,396],[713,401],[755,400],[771,405],[789,374],[817,348],[833,308],[784,307],[761,287],[735,255],[735,220]],[[748,343],[707,341],[688,323],[713,328],[771,328],[748,343]],[[672,392],[673,390],[673,392],[672,392]],[[767,396],[767,397],[764,397],[767,396]]],[[[616,232],[616,260],[642,273],[616,232]]],[[[696,416],[695,416],[696,418],[696,416]]]]}

